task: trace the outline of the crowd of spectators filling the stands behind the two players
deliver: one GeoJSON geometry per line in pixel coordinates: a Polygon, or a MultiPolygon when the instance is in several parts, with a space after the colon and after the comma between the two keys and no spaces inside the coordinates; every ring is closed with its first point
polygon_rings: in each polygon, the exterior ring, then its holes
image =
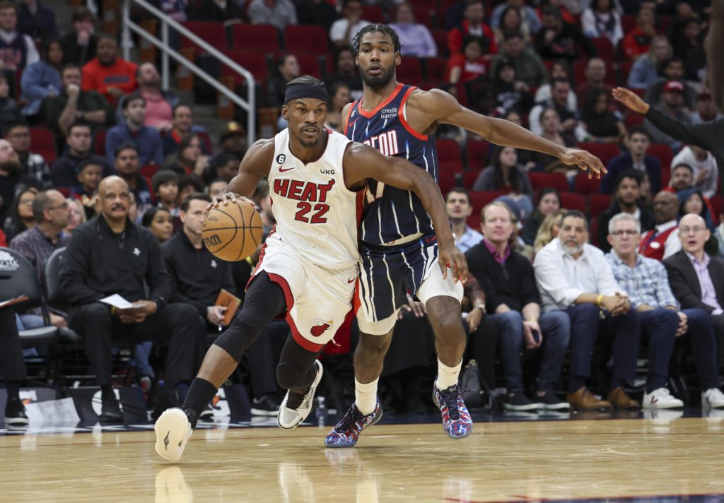
{"type": "MultiPolygon", "coordinates": [[[[468,354],[487,386],[505,387],[506,408],[529,410],[568,407],[555,398],[561,391],[580,408],[637,407],[626,389],[640,345],[649,358],[643,405],[676,405],[666,390],[669,362],[690,351],[702,403],[724,406],[717,176],[724,159],[689,125],[720,117],[705,85],[702,3],[158,3],[202,37],[220,30],[230,43],[219,48],[242,65],[260,51],[239,45],[237,35],[252,25],[271,33],[277,49],[261,55],[260,107],[281,106],[286,83],[299,75],[321,77],[330,96],[327,126],[342,131],[342,109],[363,91],[354,35],[390,22],[403,43],[398,80],[445,90],[480,114],[599,156],[608,174],[588,179],[555,157],[497,147],[439,124],[439,185],[456,242],[484,293],[476,297],[482,308],[466,313],[476,321],[466,321],[473,328],[468,354]],[[616,86],[644,98],[650,110],[613,99],[616,86]],[[604,381],[590,355],[605,351],[613,366],[604,381]],[[521,354],[529,353],[540,360],[531,379],[521,367],[521,354]],[[592,378],[602,399],[587,387],[592,378]]],[[[193,376],[206,334],[222,324],[216,295],[224,288],[243,297],[258,253],[223,263],[200,234],[203,207],[223,193],[248,147],[243,125],[228,122],[211,138],[194,123],[193,103],[161,89],[156,62],[122,59],[116,35],[97,27],[81,7],[59,33],[53,12],[38,0],[0,0],[0,245],[20,251],[39,275],[50,253],[67,248],[62,284],[70,312],[53,312],[47,321],[37,311],[20,312],[17,328],[49,322],[83,337],[93,331],[86,350],[110,420],[120,414],[110,392],[111,340],[138,342],[139,382],[148,389],[163,374],[169,394],[157,403],[173,402],[173,384],[193,376]],[[129,314],[98,303],[112,293],[143,308],[129,314]],[[167,348],[165,373],[149,363],[159,347],[167,348]]],[[[172,43],[193,46],[178,34],[172,43]]],[[[277,127],[284,126],[279,118],[277,127]]],[[[261,185],[255,198],[266,235],[274,225],[268,188],[261,185]]],[[[424,310],[413,299],[411,306],[400,314],[382,378],[385,392],[399,399],[395,408],[418,412],[419,376],[434,358],[424,310]],[[418,331],[425,344],[413,344],[418,331]]],[[[275,322],[249,352],[256,413],[278,408],[274,359],[286,330],[275,322]]]]}

